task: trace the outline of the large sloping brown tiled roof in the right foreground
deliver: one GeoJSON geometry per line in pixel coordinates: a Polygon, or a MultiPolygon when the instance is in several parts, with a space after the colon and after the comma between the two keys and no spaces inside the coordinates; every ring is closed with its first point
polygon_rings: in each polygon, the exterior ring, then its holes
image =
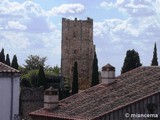
{"type": "Polygon", "coordinates": [[[115,78],[111,85],[99,84],[59,102],[59,108],[47,112],[43,108],[31,116],[65,120],[93,120],[160,92],[160,67],[139,67],[115,78]]]}

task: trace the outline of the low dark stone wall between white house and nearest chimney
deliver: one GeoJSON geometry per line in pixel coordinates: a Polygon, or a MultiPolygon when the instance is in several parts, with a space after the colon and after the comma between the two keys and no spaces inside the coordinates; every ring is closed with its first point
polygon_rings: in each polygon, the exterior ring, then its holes
{"type": "Polygon", "coordinates": [[[20,115],[29,118],[29,113],[43,107],[44,88],[22,88],[20,94],[20,115]]]}

